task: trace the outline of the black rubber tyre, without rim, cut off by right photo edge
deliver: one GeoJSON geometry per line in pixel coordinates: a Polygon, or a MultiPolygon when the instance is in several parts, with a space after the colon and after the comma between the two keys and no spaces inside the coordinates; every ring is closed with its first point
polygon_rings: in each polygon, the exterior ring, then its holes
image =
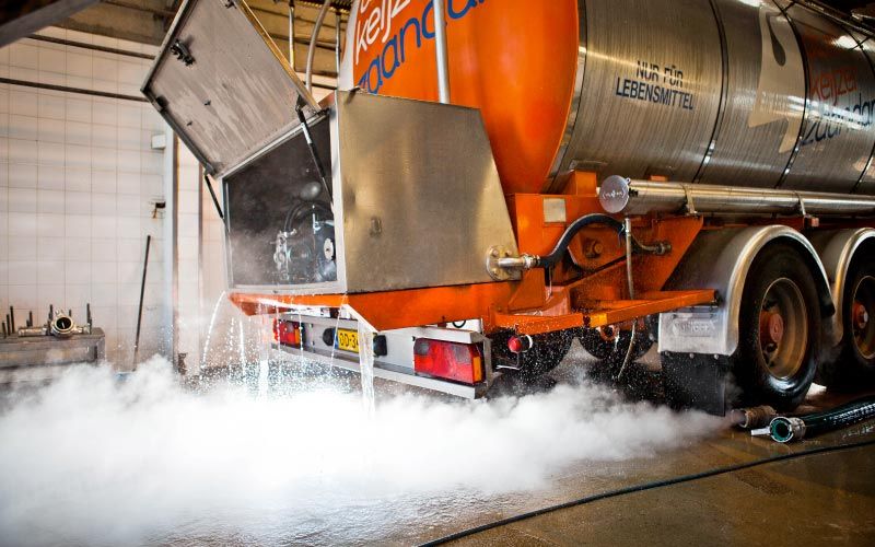
{"type": "MultiPolygon", "coordinates": [[[[848,282],[842,295],[842,325],[844,334],[837,359],[820,364],[818,381],[830,389],[852,392],[870,388],[875,385],[875,356],[866,358],[861,353],[854,342],[853,334],[853,302],[854,290],[860,281],[866,277],[875,278],[875,264],[864,251],[851,264],[848,272],[848,282]]],[[[875,316],[870,314],[872,319],[875,316]]]]}

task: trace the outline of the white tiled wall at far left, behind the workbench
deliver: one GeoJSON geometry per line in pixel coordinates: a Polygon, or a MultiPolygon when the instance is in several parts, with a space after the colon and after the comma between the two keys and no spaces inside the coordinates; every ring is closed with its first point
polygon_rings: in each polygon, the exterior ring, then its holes
{"type": "MultiPolygon", "coordinates": [[[[155,48],[47,28],[40,34],[129,51],[155,48]]],[[[0,49],[0,77],[138,95],[148,59],[32,38],[0,49]]],[[[152,235],[141,357],[168,351],[161,117],[148,103],[0,85],[0,310],[42,319],[49,304],[84,321],[91,303],[107,357],[130,365],[145,237],[152,235]]],[[[0,315],[2,317],[4,315],[0,315]]]]}

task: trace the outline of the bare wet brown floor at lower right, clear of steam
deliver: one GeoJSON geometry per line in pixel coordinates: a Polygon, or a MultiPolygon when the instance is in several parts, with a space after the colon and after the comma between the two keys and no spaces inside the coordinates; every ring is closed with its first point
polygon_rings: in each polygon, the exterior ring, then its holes
{"type": "MultiPolygon", "coordinates": [[[[803,410],[848,397],[812,396],[803,410]]],[[[529,492],[528,510],[763,457],[875,440],[875,422],[782,445],[732,429],[658,459],[582,465],[557,477],[557,489],[529,492]]],[[[553,511],[454,542],[458,545],[875,545],[875,446],[803,456],[660,489],[553,511]]],[[[435,539],[518,514],[486,511],[435,539]]]]}

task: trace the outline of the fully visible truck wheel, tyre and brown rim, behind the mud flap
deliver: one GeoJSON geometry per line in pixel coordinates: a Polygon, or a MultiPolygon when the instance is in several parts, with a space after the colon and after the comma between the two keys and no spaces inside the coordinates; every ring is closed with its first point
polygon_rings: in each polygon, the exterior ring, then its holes
{"type": "Polygon", "coordinates": [[[754,260],[732,359],[745,403],[781,410],[802,403],[817,371],[819,312],[810,270],[792,247],[774,245],[754,260]]]}

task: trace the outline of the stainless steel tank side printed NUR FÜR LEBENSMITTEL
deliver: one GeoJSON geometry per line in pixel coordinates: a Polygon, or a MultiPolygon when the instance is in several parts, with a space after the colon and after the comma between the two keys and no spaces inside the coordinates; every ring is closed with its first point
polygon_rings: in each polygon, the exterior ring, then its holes
{"type": "Polygon", "coordinates": [[[771,0],[586,0],[561,168],[871,193],[864,36],[771,0]]]}

